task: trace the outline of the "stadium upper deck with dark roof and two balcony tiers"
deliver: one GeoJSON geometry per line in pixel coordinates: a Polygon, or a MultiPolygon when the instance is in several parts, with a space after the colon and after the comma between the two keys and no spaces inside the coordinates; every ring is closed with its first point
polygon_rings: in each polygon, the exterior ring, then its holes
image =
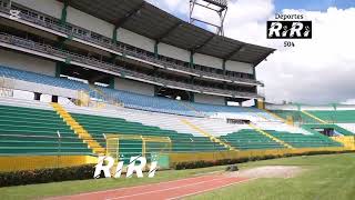
{"type": "Polygon", "coordinates": [[[1,31],[12,38],[11,46],[2,40],[2,47],[18,51],[20,46],[22,52],[55,62],[145,82],[150,91],[155,90],[153,84],[203,98],[257,98],[256,86],[262,83],[255,79],[255,67],[274,51],[216,36],[142,0],[0,0],[0,4],[1,23],[7,26],[1,31]],[[20,10],[21,18],[8,20],[10,9],[20,10]],[[37,41],[45,48],[38,48],[37,41]],[[54,50],[60,59],[53,58],[54,50]]]}

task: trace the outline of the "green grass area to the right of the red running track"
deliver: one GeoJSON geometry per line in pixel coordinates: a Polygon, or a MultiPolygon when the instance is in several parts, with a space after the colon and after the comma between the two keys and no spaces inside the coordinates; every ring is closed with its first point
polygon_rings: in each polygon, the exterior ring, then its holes
{"type": "Polygon", "coordinates": [[[313,156],[251,163],[251,166],[301,166],[304,172],[291,179],[258,179],[189,199],[354,200],[355,154],[313,156]]]}

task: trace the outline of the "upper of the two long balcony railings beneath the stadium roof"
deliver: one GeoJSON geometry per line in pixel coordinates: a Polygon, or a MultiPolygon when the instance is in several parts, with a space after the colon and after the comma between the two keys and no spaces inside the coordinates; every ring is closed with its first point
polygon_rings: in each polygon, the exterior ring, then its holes
{"type": "MultiPolygon", "coordinates": [[[[8,14],[10,10],[4,7],[0,7],[0,11],[8,14]]],[[[40,13],[38,13],[38,14],[40,14],[40,13]]],[[[207,71],[203,71],[203,70],[192,69],[192,68],[185,67],[183,64],[178,64],[175,62],[169,61],[166,58],[163,58],[163,59],[156,58],[155,56],[149,54],[144,50],[138,50],[134,47],[128,47],[126,44],[124,44],[122,42],[113,42],[112,39],[106,38],[104,36],[101,36],[101,34],[98,34],[98,33],[94,33],[94,34],[99,36],[99,37],[92,37],[92,32],[89,30],[85,30],[83,28],[79,28],[77,26],[68,24],[68,23],[65,23],[65,24],[60,24],[59,22],[54,23],[53,21],[58,21],[58,20],[52,17],[47,17],[47,18],[52,19],[49,21],[40,20],[40,19],[38,19],[33,16],[27,14],[24,12],[21,12],[20,17],[22,20],[29,21],[31,23],[34,23],[34,24],[38,24],[38,26],[41,26],[41,27],[44,27],[44,28],[48,28],[51,30],[55,30],[58,32],[64,33],[70,37],[75,37],[78,39],[81,39],[81,40],[84,40],[88,42],[92,42],[94,44],[101,46],[103,48],[108,48],[110,50],[120,52],[122,54],[132,56],[132,57],[135,57],[135,58],[139,58],[142,60],[145,60],[145,61],[162,64],[165,68],[166,67],[173,68],[173,69],[186,71],[186,72],[196,73],[199,76],[207,76],[207,77],[219,78],[219,79],[224,79],[224,80],[232,80],[232,81],[246,82],[246,83],[253,83],[253,84],[263,84],[261,81],[257,81],[254,79],[237,78],[237,77],[233,77],[233,76],[224,76],[224,74],[207,72],[207,71]],[[78,29],[82,30],[81,33],[73,31],[73,28],[75,28],[77,30],[78,29]]]]}

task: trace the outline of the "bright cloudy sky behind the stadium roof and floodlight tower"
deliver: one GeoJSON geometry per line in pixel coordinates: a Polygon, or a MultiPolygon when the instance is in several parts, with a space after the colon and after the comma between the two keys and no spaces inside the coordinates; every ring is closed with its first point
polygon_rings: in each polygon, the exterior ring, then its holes
{"type": "MultiPolygon", "coordinates": [[[[189,0],[149,0],[184,20],[189,0]]],[[[217,20],[215,13],[196,10],[195,17],[217,20]]],[[[271,102],[355,103],[355,0],[230,0],[225,36],[277,49],[257,66],[271,102]],[[266,39],[266,20],[275,13],[302,13],[313,21],[311,40],[266,39]]]]}

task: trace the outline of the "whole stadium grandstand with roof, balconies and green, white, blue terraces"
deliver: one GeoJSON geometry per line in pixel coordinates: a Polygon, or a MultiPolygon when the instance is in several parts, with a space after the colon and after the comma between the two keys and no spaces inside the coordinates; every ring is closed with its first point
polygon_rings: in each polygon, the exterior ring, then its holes
{"type": "Polygon", "coordinates": [[[0,0],[0,171],[355,149],[355,107],[264,104],[273,51],[143,0],[0,0]]]}

